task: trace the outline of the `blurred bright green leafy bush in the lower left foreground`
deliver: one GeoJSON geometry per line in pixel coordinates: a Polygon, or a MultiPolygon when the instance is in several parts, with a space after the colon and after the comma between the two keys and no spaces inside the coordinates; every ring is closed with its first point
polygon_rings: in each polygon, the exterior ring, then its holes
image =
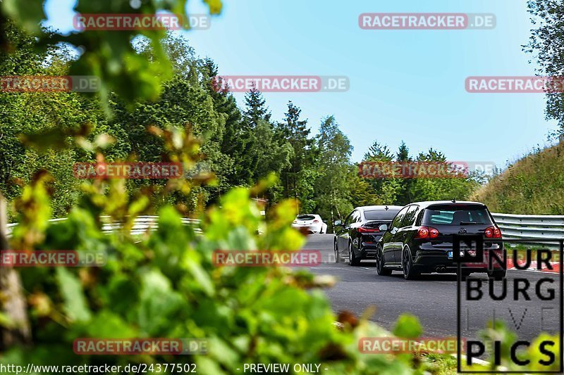
{"type": "MultiPolygon", "coordinates": [[[[108,260],[101,268],[22,269],[34,343],[10,348],[3,363],[60,364],[61,358],[65,364],[186,362],[197,364],[204,374],[233,374],[249,362],[321,363],[327,374],[412,372],[409,358],[357,350],[361,337],[385,334],[373,324],[335,329],[336,318],[315,277],[281,267],[213,264],[216,249],[301,248],[305,238],[290,227],[292,201],[275,208],[262,235],[256,234],[262,216],[249,189],[232,189],[210,208],[202,217],[201,236],[182,224],[175,209],[164,206],[158,229],[134,243],[127,231],[102,234],[98,210],[87,204],[99,201],[95,191],[73,208],[68,220],[56,224],[48,224],[47,215],[31,215],[49,211],[45,182],[38,179],[26,191],[18,204],[27,220],[14,232],[13,243],[96,249],[108,260]],[[207,338],[209,353],[173,358],[73,355],[73,340],[79,337],[207,338]]],[[[114,210],[111,200],[105,202],[102,212],[114,210]]],[[[401,318],[398,330],[411,332],[411,325],[401,318]]]]}

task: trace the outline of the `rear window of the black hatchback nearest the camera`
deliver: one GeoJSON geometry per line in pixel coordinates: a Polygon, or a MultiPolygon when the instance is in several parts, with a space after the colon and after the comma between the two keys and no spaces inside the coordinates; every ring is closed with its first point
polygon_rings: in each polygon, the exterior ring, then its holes
{"type": "Polygon", "coordinates": [[[422,224],[493,224],[483,205],[433,205],[425,210],[422,224]]]}

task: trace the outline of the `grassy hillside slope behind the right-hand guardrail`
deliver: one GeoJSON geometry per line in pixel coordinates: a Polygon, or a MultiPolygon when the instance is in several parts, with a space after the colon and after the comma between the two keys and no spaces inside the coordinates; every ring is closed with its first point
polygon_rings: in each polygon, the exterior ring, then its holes
{"type": "Polygon", "coordinates": [[[518,160],[472,198],[492,212],[564,215],[564,144],[518,160]]]}

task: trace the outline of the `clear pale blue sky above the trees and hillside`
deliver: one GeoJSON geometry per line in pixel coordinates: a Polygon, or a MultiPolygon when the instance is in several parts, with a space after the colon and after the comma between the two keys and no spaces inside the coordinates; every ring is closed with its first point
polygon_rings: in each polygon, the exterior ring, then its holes
{"type": "MultiPolygon", "coordinates": [[[[47,25],[73,28],[73,0],[47,0],[47,25]]],[[[188,2],[204,13],[203,1],[188,2]]],[[[348,136],[353,161],[374,141],[416,155],[430,147],[448,160],[498,167],[546,144],[544,94],[465,91],[469,76],[530,76],[522,51],[533,25],[525,0],[223,0],[207,30],[183,32],[221,75],[340,75],[345,92],[264,93],[272,118],[288,101],[302,108],[312,134],[333,115],[348,136]],[[361,13],[494,13],[493,30],[362,30],[361,13]]],[[[532,61],[532,62],[530,62],[532,61]]],[[[235,97],[243,106],[243,93],[235,97]]]]}

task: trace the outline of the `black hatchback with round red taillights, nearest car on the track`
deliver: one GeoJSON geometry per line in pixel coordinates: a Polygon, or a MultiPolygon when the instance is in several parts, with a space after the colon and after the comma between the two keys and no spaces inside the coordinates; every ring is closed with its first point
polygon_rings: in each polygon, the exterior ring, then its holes
{"type": "MultiPolygon", "coordinates": [[[[419,274],[458,271],[453,261],[453,234],[482,234],[484,254],[493,250],[503,258],[501,231],[486,205],[478,202],[430,201],[406,205],[391,224],[380,227],[384,231],[376,246],[376,272],[389,275],[403,271],[405,279],[419,274]],[[491,239],[491,241],[487,241],[491,239]]],[[[465,245],[463,245],[465,246],[465,245]]],[[[475,256],[475,249],[467,250],[475,256]]],[[[472,272],[487,272],[489,277],[503,279],[505,269],[496,262],[488,270],[486,258],[480,262],[463,263],[462,276],[472,272]]]]}

